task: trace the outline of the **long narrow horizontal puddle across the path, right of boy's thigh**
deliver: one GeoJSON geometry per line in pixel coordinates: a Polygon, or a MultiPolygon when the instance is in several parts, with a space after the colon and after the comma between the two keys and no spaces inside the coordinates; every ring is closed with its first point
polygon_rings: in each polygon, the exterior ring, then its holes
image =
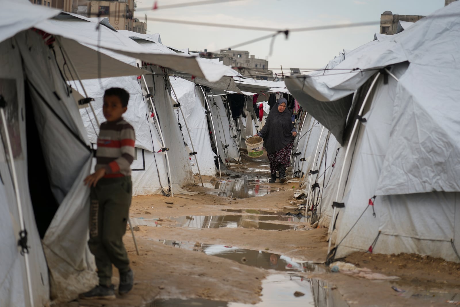
{"type": "MultiPolygon", "coordinates": [[[[257,211],[257,210],[256,210],[257,211]]],[[[260,211],[259,211],[260,212],[260,211]]],[[[158,218],[132,218],[132,226],[151,226],[158,225],[158,218]]],[[[180,217],[167,217],[160,222],[167,226],[186,227],[186,228],[251,228],[260,230],[298,230],[305,229],[305,217],[288,216],[288,215],[190,215],[180,217]],[[173,223],[170,223],[172,221],[173,223]],[[277,224],[277,221],[283,221],[283,224],[277,224]],[[288,222],[288,223],[286,223],[288,222]]]]}

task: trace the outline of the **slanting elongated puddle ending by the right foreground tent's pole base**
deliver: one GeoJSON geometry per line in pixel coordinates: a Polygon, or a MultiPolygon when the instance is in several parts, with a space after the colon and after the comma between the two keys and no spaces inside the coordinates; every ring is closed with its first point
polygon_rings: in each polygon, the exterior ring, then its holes
{"type": "Polygon", "coordinates": [[[240,249],[219,244],[192,243],[174,240],[159,240],[163,244],[178,249],[187,249],[240,262],[247,266],[288,272],[325,272],[321,266],[307,262],[296,262],[288,256],[273,254],[267,251],[240,249]]]}

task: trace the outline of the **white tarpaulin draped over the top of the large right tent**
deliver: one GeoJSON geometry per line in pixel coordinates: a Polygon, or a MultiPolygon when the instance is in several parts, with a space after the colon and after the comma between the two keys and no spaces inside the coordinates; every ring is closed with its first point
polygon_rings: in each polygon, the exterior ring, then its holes
{"type": "MultiPolygon", "coordinates": [[[[460,191],[457,182],[460,176],[460,125],[456,103],[459,97],[456,84],[460,83],[457,73],[460,66],[460,20],[456,14],[460,14],[460,3],[457,2],[397,35],[369,44],[359,52],[350,52],[336,66],[363,70],[409,63],[408,70],[395,85],[397,104],[391,118],[390,148],[377,186],[379,195],[460,191]]],[[[326,100],[331,97],[339,99],[360,87],[375,71],[344,75],[326,73],[324,77],[309,79],[320,82],[321,86],[316,90],[326,100]]],[[[297,93],[302,87],[301,79],[293,81],[295,83],[286,82],[288,88],[293,85],[293,91],[297,93]]],[[[299,103],[309,109],[305,102],[299,100],[299,103]]],[[[327,111],[323,112],[325,117],[327,111]]],[[[343,115],[346,116],[347,112],[343,115]]]]}

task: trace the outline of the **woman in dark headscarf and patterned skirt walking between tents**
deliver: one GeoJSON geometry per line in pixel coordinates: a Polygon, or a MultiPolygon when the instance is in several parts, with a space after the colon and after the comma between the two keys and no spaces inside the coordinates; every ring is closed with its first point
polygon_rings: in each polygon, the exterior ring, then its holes
{"type": "Polygon", "coordinates": [[[268,114],[264,127],[257,133],[264,139],[264,147],[270,162],[270,183],[275,183],[276,171],[280,172],[280,182],[286,182],[286,168],[289,165],[293,140],[297,134],[287,104],[286,98],[279,98],[276,107],[268,114]]]}

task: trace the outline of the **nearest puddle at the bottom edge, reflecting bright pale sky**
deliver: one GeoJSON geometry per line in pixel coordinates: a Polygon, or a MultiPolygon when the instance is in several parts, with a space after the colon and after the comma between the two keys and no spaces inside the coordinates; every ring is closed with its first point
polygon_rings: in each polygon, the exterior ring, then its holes
{"type": "Polygon", "coordinates": [[[261,301],[256,304],[211,301],[205,299],[157,299],[150,307],[202,306],[202,307],[346,307],[337,290],[331,290],[326,282],[302,278],[294,274],[273,274],[262,281],[261,301]],[[294,295],[297,293],[298,296],[294,295]],[[303,295],[300,295],[303,294],[303,295]]]}

